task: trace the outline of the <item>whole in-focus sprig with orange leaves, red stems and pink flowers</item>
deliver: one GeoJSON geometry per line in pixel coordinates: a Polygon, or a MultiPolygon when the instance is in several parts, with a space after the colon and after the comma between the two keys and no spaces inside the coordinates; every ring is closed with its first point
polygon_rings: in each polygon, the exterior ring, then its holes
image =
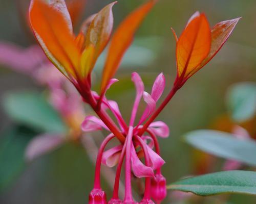
{"type": "Polygon", "coordinates": [[[165,78],[160,73],[156,78],[151,93],[144,91],[144,84],[138,73],[132,73],[136,87],[136,97],[129,124],[126,124],[118,104],[106,98],[105,93],[113,83],[122,56],[131,45],[134,34],[146,14],[156,1],[150,0],[129,14],[119,25],[113,28],[112,8],[116,2],[104,7],[97,14],[90,16],[82,24],[77,36],[73,34],[72,21],[65,1],[32,0],[30,5],[30,23],[33,32],[51,62],[76,87],[83,98],[95,111],[96,116],[87,116],[81,128],[84,132],[93,132],[102,128],[110,134],[103,140],[96,161],[94,188],[89,195],[89,203],[106,203],[106,194],[100,185],[101,164],[113,167],[117,165],[113,196],[108,201],[114,203],[137,203],[132,195],[132,175],[145,177],[144,196],[139,203],[160,203],[166,197],[166,181],[161,173],[165,163],[160,156],[157,136],[168,137],[168,126],[162,121],[155,121],[159,113],[172,99],[184,83],[220,50],[228,39],[239,18],[222,21],[210,29],[204,14],[196,12],[188,21],[176,45],[177,77],[173,88],[157,108],[157,102],[165,88],[165,78]],[[91,90],[91,73],[97,58],[108,44],[109,50],[103,68],[100,93],[91,90]],[[143,98],[146,107],[135,124],[139,104],[143,98]],[[112,113],[117,124],[108,113],[112,113]],[[119,145],[108,150],[105,147],[117,138],[119,145]],[[144,160],[144,163],[142,162],[144,160]],[[125,173],[125,195],[119,198],[119,181],[122,164],[125,173]]]}

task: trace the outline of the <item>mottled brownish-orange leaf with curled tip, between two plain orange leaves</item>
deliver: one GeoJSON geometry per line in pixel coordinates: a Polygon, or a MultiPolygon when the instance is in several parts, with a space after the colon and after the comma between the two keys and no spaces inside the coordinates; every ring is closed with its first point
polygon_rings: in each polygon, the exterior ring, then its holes
{"type": "Polygon", "coordinates": [[[112,7],[113,2],[104,7],[92,20],[86,34],[86,47],[93,44],[95,46],[95,58],[97,58],[106,44],[109,42],[113,29],[112,7]]]}

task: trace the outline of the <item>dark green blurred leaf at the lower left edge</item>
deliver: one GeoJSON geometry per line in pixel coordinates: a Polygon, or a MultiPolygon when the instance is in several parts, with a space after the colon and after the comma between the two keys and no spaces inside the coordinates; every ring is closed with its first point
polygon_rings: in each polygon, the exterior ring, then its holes
{"type": "Polygon", "coordinates": [[[36,133],[26,127],[13,127],[0,137],[0,191],[8,187],[25,167],[24,152],[36,133]]]}

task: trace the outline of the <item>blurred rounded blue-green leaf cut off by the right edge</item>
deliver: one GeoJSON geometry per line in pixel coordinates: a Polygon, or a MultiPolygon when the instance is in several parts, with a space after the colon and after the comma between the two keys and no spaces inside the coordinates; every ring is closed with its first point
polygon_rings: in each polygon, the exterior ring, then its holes
{"type": "Polygon", "coordinates": [[[243,82],[231,86],[227,93],[227,104],[234,121],[251,119],[256,113],[256,83],[243,82]]]}

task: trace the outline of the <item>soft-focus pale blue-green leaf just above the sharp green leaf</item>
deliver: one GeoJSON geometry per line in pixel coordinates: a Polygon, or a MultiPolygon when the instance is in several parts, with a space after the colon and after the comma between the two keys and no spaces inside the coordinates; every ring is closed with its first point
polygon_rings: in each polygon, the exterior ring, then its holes
{"type": "Polygon", "coordinates": [[[256,166],[256,142],[237,139],[229,133],[211,130],[192,131],[185,135],[192,146],[225,159],[233,159],[256,166]]]}

